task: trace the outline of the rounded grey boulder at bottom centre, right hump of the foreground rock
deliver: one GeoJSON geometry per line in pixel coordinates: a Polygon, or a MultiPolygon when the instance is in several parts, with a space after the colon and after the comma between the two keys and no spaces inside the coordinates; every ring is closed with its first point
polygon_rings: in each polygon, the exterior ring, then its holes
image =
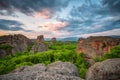
{"type": "Polygon", "coordinates": [[[71,64],[70,62],[55,62],[47,67],[47,71],[61,74],[61,75],[68,75],[68,76],[78,76],[79,72],[75,65],[71,64]]]}

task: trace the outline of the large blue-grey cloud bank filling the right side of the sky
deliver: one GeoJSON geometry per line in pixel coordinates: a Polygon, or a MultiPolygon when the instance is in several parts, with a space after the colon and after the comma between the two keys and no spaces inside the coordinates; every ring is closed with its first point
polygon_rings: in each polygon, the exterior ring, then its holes
{"type": "Polygon", "coordinates": [[[108,6],[106,7],[100,0],[86,1],[83,1],[81,5],[74,6],[67,19],[58,18],[69,23],[67,27],[61,28],[61,30],[69,31],[71,35],[80,35],[119,28],[119,14],[111,13],[108,6]]]}

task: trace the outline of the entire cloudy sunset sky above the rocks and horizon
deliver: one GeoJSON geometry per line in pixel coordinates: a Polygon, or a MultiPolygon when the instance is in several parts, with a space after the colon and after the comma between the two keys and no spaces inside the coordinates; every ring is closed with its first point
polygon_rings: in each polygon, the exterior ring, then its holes
{"type": "Polygon", "coordinates": [[[0,0],[0,36],[120,35],[120,0],[0,0]]]}

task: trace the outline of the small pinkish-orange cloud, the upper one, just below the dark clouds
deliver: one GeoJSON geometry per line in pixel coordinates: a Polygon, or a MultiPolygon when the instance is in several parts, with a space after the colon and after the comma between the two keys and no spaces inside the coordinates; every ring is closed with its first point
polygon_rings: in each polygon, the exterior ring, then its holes
{"type": "Polygon", "coordinates": [[[49,19],[51,16],[51,11],[49,9],[42,9],[40,12],[34,15],[35,18],[43,17],[45,19],[49,19]]]}

